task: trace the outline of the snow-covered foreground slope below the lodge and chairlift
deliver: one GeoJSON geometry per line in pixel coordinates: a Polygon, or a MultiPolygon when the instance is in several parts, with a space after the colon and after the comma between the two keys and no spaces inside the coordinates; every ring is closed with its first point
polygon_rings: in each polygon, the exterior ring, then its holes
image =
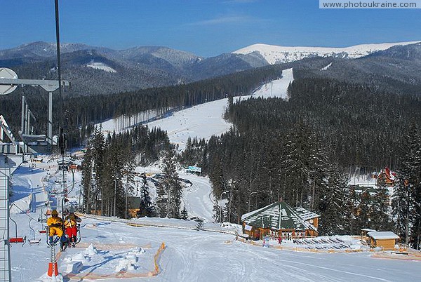
{"type": "MultiPolygon", "coordinates": [[[[29,213],[29,215],[32,215],[29,213]]],[[[26,231],[27,215],[14,215],[26,231]]],[[[69,281],[417,281],[419,261],[388,260],[373,253],[315,253],[236,241],[233,234],[196,231],[192,222],[154,220],[172,227],[135,227],[107,218],[82,217],[82,241],[58,259],[59,278],[69,281]],[[184,228],[176,228],[181,225],[184,228]],[[161,243],[165,248],[154,258],[161,243]],[[155,275],[154,277],[150,277],[155,275]],[[127,277],[127,278],[123,278],[127,277]],[[91,280],[92,279],[92,280],[91,280]]],[[[147,220],[146,220],[147,221],[147,220]]],[[[142,219],[136,220],[142,223],[142,219]]],[[[216,224],[214,224],[216,225],[216,224]]],[[[41,224],[37,226],[41,228],[41,224]]],[[[206,228],[206,226],[205,226],[206,228]]],[[[228,230],[229,231],[229,230],[228,230]]],[[[36,234],[36,238],[43,238],[36,234]]],[[[288,243],[285,243],[288,246],[288,243]]],[[[50,281],[50,249],[13,246],[13,281],[50,281]]]]}

